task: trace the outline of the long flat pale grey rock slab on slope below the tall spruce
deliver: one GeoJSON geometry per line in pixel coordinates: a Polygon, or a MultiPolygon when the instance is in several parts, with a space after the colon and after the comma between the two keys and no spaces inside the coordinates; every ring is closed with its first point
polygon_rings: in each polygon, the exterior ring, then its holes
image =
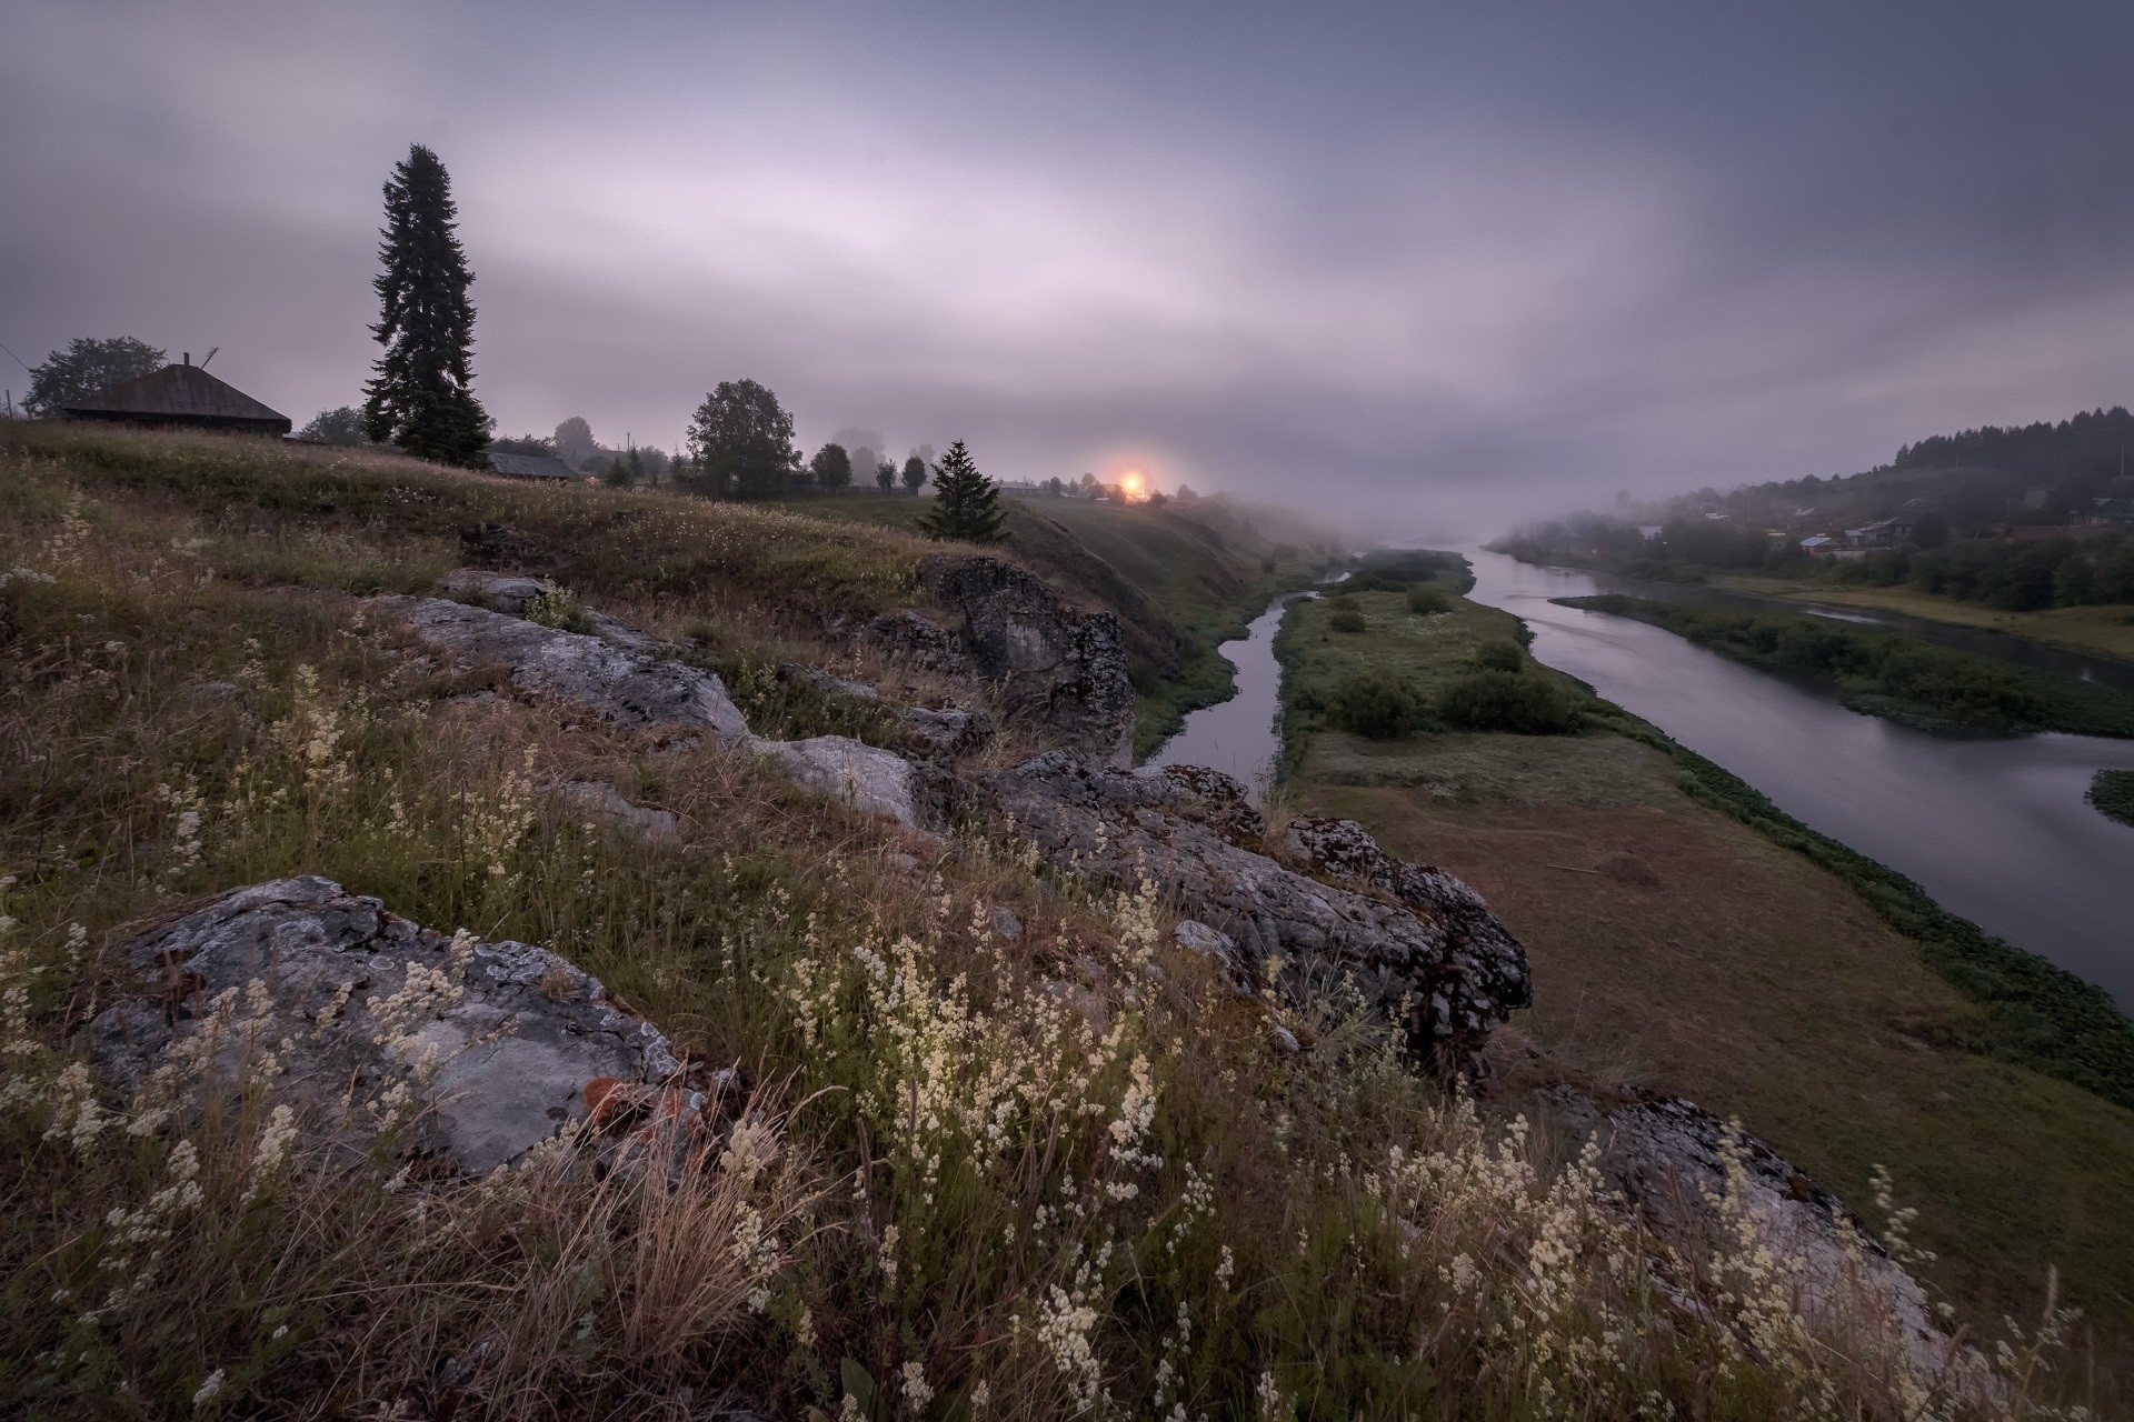
{"type": "Polygon", "coordinates": [[[749,723],[713,672],[442,597],[371,601],[461,663],[508,667],[521,691],[589,706],[617,725],[687,727],[723,744],[749,738],[749,723]]]}

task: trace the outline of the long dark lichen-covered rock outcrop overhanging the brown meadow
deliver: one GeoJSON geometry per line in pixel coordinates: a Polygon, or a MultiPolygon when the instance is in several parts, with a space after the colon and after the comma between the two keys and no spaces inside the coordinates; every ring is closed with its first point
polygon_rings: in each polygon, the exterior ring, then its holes
{"type": "Polygon", "coordinates": [[[1400,866],[1415,872],[1396,872],[1398,891],[1300,874],[1248,846],[1259,814],[1229,776],[1122,772],[1050,750],[990,776],[986,797],[1061,868],[1118,887],[1154,880],[1180,915],[1212,930],[1195,930],[1193,947],[1227,957],[1214,944],[1236,944],[1248,987],[1306,1000],[1349,985],[1419,1057],[1470,1066],[1487,1034],[1532,1000],[1526,949],[1472,889],[1415,866],[1400,866]]]}

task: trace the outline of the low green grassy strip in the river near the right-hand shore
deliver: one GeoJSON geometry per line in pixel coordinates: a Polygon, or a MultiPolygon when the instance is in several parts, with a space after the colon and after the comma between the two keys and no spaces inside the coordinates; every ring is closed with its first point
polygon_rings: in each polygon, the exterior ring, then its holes
{"type": "Polygon", "coordinates": [[[1767,672],[1833,682],[1848,708],[1927,731],[2134,736],[2134,695],[1812,614],[1697,608],[1603,593],[1564,608],[1637,618],[1767,672]]]}

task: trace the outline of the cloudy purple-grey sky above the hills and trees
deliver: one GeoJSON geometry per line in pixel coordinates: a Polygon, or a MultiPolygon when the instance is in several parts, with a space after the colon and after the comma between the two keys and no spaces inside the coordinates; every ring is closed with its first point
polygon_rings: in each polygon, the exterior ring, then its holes
{"type": "Polygon", "coordinates": [[[672,448],[753,377],[809,450],[1485,535],[2134,384],[2128,4],[0,0],[0,343],[220,348],[299,424],[378,354],[410,143],[499,433],[672,448]]]}

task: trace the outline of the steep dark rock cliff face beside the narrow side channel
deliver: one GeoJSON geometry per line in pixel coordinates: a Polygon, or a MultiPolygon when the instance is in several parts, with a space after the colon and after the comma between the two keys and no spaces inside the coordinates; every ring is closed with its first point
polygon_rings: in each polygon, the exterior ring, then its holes
{"type": "Polygon", "coordinates": [[[958,642],[1001,684],[1009,721],[1103,765],[1133,763],[1133,682],[1116,614],[1078,612],[1001,559],[933,556],[920,582],[960,616],[958,642]]]}

